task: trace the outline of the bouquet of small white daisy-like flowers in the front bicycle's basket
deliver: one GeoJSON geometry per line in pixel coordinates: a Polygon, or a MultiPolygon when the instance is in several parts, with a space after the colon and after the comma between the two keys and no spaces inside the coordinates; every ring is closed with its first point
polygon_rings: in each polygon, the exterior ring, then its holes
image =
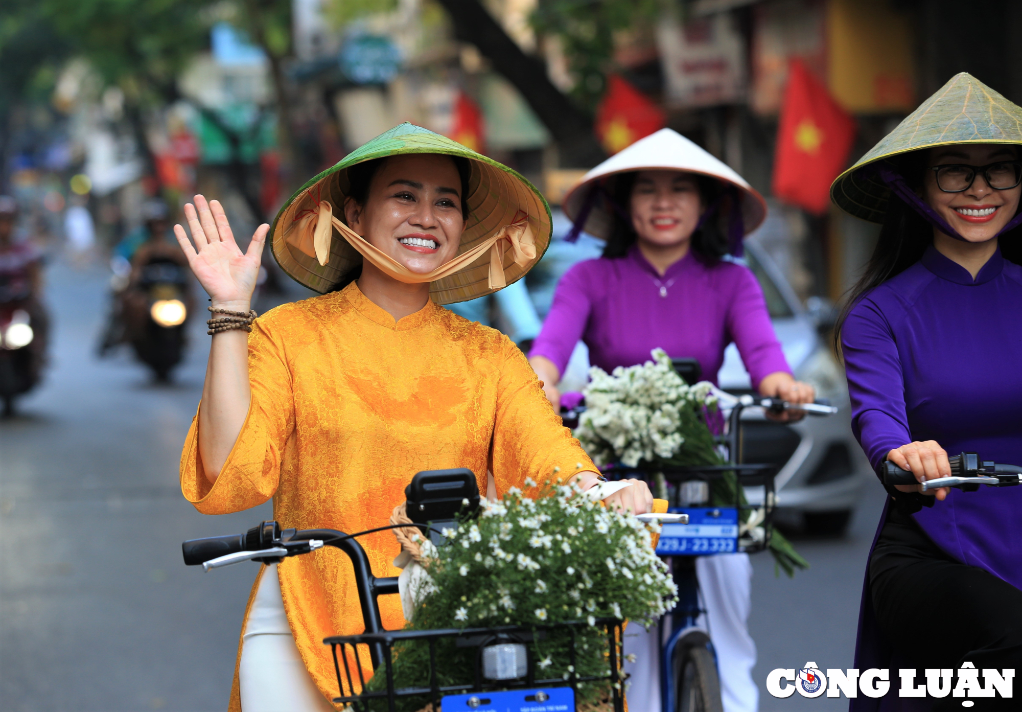
{"type": "MultiPolygon", "coordinates": [[[[529,628],[580,621],[573,636],[565,628],[548,628],[529,643],[537,676],[609,675],[607,632],[597,619],[649,624],[673,608],[677,586],[653,552],[647,525],[605,508],[574,485],[538,487],[531,480],[526,485],[530,496],[512,488],[500,501],[483,501],[478,518],[445,532],[447,544],[435,547],[422,540],[421,563],[429,580],[415,596],[408,628],[529,628]]],[[[426,641],[400,643],[394,653],[399,686],[428,687],[426,641]]],[[[475,649],[439,638],[435,656],[445,661],[439,684],[472,684],[475,649]]],[[[374,676],[368,688],[384,689],[384,677],[374,676]]],[[[579,702],[607,699],[609,684],[579,683],[579,702]]],[[[399,701],[403,710],[427,702],[399,701]]]]}

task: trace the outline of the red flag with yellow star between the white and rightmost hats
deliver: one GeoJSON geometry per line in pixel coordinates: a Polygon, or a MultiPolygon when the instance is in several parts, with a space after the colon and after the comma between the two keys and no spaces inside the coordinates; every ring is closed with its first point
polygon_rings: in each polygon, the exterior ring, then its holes
{"type": "Polygon", "coordinates": [[[818,215],[830,205],[830,185],[845,167],[855,121],[801,59],[791,62],[774,155],[774,194],[818,215]]]}

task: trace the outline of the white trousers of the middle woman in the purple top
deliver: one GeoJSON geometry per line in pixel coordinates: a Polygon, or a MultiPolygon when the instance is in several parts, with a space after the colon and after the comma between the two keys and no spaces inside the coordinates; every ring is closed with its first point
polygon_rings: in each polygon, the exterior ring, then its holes
{"type": "MultiPolygon", "coordinates": [[[[746,553],[702,557],[696,560],[700,603],[706,615],[699,621],[713,640],[725,712],[756,712],[759,689],[752,680],[756,644],[749,635],[752,565],[746,553]]],[[[657,626],[649,631],[630,625],[624,631],[624,663],[629,679],[629,710],[660,712],[660,641],[657,626]]]]}

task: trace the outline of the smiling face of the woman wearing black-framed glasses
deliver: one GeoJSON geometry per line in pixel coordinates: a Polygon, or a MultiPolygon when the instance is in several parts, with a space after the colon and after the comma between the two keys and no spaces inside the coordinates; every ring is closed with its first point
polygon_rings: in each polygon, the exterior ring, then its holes
{"type": "Polygon", "coordinates": [[[936,172],[931,169],[948,164],[987,166],[997,161],[1017,159],[1017,149],[1008,145],[960,144],[933,148],[923,179],[923,199],[966,240],[985,242],[1015,216],[1022,186],[996,190],[987,184],[981,173],[977,173],[972,185],[964,191],[944,192],[937,185],[936,172]]]}

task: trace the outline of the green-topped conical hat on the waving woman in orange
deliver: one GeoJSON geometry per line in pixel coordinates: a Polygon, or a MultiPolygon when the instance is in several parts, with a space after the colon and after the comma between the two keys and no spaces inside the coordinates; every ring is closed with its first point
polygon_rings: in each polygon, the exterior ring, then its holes
{"type": "MultiPolygon", "coordinates": [[[[320,201],[329,201],[342,213],[351,184],[347,169],[356,164],[406,153],[442,153],[469,160],[468,219],[461,236],[461,255],[482,242],[521,213],[528,216],[528,226],[536,240],[536,259],[526,265],[513,260],[510,251],[504,256],[507,283],[520,279],[540,261],[550,244],[550,206],[537,188],[507,166],[476,153],[450,138],[405,123],[380,134],[349,153],[336,166],[310,180],[284,204],[273,221],[272,251],[277,264],[292,279],[310,290],[325,294],[350,270],[362,263],[362,256],[333,230],[329,260],[320,265],[316,257],[299,250],[299,221],[314,213],[320,201]],[[521,213],[519,213],[521,211],[521,213]]],[[[430,283],[430,298],[437,304],[463,302],[497,290],[490,287],[490,257],[482,255],[464,269],[430,283]]]]}

